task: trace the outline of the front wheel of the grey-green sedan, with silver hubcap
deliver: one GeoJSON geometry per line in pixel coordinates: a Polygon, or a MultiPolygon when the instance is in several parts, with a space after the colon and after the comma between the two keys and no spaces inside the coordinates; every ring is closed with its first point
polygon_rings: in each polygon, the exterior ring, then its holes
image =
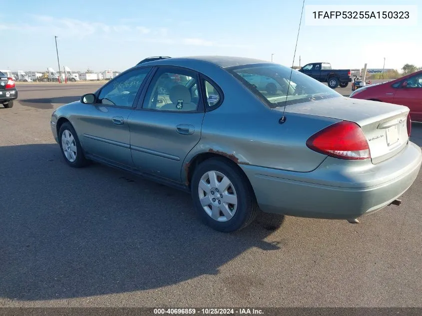
{"type": "Polygon", "coordinates": [[[88,164],[73,126],[65,122],[58,132],[58,144],[66,163],[74,168],[81,168],[88,164]],[[64,148],[64,149],[63,149],[64,148]]]}

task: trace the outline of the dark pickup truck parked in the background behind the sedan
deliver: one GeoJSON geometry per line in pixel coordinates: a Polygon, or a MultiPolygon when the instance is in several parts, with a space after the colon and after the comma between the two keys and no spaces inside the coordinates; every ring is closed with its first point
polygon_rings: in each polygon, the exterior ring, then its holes
{"type": "Polygon", "coordinates": [[[328,62],[308,63],[299,69],[300,72],[320,81],[327,82],[330,88],[345,88],[352,82],[351,69],[331,69],[328,62]]]}

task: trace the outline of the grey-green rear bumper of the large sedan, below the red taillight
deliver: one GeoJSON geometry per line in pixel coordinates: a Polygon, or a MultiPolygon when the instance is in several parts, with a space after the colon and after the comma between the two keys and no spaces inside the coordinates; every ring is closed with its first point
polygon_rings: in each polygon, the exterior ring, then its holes
{"type": "Polygon", "coordinates": [[[337,172],[337,177],[327,167],[333,166],[332,162],[326,166],[324,163],[307,173],[249,165],[241,167],[264,212],[354,219],[384,208],[405,193],[419,174],[422,153],[419,146],[409,142],[401,153],[388,161],[373,168],[344,169],[337,172]],[[331,183],[327,178],[331,178],[331,183]]]}

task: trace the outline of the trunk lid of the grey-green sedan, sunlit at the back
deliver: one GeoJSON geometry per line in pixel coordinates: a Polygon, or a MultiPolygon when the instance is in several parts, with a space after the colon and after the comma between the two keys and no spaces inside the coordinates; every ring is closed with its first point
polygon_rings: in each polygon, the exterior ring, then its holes
{"type": "MultiPolygon", "coordinates": [[[[283,107],[277,110],[280,109],[283,110],[283,107]]],[[[409,108],[403,105],[336,97],[288,105],[286,113],[289,112],[357,123],[367,138],[374,164],[395,156],[409,139],[409,108]]]]}

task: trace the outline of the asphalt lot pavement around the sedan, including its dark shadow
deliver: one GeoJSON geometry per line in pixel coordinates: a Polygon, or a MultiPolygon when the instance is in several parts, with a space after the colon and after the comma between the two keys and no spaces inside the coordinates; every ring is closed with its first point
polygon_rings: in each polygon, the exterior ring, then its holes
{"type": "Polygon", "coordinates": [[[51,111],[98,87],[18,84],[0,107],[0,307],[422,307],[421,174],[361,224],[266,215],[218,233],[188,194],[65,164],[51,111]]]}

